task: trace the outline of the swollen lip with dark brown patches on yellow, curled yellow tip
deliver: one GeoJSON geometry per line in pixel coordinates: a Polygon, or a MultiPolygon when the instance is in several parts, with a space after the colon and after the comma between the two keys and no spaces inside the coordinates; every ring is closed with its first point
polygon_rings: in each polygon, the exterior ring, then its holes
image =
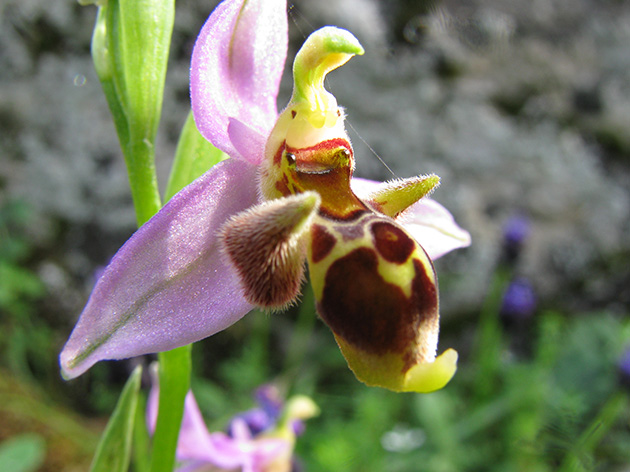
{"type": "Polygon", "coordinates": [[[384,215],[342,222],[320,211],[308,261],[317,311],[357,378],[410,389],[413,369],[435,360],[439,330],[435,271],[422,247],[384,215]]]}

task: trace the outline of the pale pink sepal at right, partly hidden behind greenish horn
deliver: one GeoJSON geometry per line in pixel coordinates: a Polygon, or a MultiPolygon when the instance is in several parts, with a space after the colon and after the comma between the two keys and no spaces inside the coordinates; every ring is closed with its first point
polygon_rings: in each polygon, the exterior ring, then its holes
{"type": "MultiPolygon", "coordinates": [[[[352,179],[352,190],[359,198],[374,192],[379,182],[352,179]]],[[[433,260],[462,247],[470,246],[470,233],[462,229],[453,215],[432,198],[414,203],[398,219],[433,260]]]]}

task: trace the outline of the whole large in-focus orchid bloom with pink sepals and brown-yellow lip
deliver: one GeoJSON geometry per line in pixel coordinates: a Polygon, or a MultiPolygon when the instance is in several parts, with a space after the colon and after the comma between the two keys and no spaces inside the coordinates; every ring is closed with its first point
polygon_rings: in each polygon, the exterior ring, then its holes
{"type": "Polygon", "coordinates": [[[277,113],[287,41],[285,0],[225,0],[203,26],[193,114],[230,158],[114,256],[61,353],[65,377],[198,341],[255,306],[284,308],[299,296],[305,261],[317,311],[359,380],[425,392],[454,374],[455,351],[436,358],[431,258],[469,245],[469,234],[426,197],[434,175],[352,179],[345,115],[323,86],[363,53],[349,32],[326,27],[306,40],[292,99],[277,113]]]}

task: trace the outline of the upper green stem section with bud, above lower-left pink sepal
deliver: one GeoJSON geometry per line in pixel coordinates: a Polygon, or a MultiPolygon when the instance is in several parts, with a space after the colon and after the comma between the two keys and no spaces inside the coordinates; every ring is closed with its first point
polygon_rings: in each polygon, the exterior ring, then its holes
{"type": "Polygon", "coordinates": [[[138,226],[161,208],[155,137],[175,15],[174,0],[99,6],[92,58],[123,151],[138,226]]]}

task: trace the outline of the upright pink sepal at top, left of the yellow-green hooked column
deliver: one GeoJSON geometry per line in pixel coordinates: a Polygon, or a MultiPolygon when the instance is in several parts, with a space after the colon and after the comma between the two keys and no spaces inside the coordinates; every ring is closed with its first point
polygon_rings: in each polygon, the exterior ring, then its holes
{"type": "Polygon", "coordinates": [[[277,118],[287,43],[286,0],[225,0],[201,29],[190,68],[195,123],[206,139],[233,157],[253,164],[263,157],[264,141],[277,118]],[[258,146],[237,149],[228,134],[231,118],[264,139],[258,146]]]}

